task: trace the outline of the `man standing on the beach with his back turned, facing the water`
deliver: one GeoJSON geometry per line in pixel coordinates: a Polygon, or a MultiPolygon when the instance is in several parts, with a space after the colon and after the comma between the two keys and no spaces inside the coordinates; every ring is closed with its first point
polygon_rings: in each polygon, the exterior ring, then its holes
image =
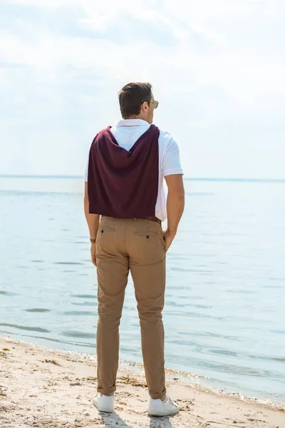
{"type": "Polygon", "coordinates": [[[182,169],[177,143],[152,125],[158,102],[150,83],[124,86],[119,103],[123,120],[95,136],[86,168],[84,205],[98,275],[98,394],[93,404],[113,412],[118,327],[130,272],[150,393],[148,413],[165,416],[178,412],[165,390],[162,310],[165,254],[184,210],[182,169]]]}

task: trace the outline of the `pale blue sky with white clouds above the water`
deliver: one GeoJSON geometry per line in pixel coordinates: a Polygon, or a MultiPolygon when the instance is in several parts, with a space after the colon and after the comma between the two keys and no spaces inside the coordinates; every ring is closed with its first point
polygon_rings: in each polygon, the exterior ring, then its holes
{"type": "Polygon", "coordinates": [[[83,175],[150,81],[185,177],[285,178],[284,0],[0,0],[0,175],[83,175]]]}

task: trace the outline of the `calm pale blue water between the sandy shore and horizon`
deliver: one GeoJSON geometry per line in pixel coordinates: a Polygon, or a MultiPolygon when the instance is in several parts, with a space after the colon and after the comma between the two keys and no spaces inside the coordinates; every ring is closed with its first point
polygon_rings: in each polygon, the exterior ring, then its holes
{"type": "MultiPolygon", "coordinates": [[[[167,260],[167,367],[285,401],[285,183],[186,181],[167,260]]],[[[81,180],[0,178],[0,332],[95,353],[81,180]]],[[[142,362],[132,282],[120,358],[142,362]]]]}

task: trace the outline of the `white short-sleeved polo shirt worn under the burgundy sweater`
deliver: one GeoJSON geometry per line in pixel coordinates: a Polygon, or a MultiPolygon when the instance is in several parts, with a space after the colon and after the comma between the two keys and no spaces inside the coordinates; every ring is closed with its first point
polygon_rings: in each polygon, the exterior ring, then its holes
{"type": "MultiPolygon", "coordinates": [[[[117,126],[111,128],[111,132],[115,137],[118,145],[130,151],[135,142],[142,136],[143,133],[150,128],[150,123],[141,119],[123,119],[117,126]]],[[[157,203],[155,206],[155,215],[160,220],[164,221],[167,218],[165,189],[163,187],[163,178],[166,175],[183,174],[179,148],[176,141],[166,131],[160,131],[158,139],[159,150],[159,182],[157,203]]],[[[88,163],[86,165],[85,180],[88,181],[88,163]]]]}

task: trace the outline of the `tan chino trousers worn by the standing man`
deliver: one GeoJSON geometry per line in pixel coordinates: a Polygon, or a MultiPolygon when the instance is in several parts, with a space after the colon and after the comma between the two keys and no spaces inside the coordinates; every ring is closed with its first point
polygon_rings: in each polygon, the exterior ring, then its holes
{"type": "Polygon", "coordinates": [[[150,397],[165,397],[165,241],[159,223],[103,217],[96,239],[98,392],[115,392],[119,325],[131,273],[138,302],[142,356],[150,397]]]}

